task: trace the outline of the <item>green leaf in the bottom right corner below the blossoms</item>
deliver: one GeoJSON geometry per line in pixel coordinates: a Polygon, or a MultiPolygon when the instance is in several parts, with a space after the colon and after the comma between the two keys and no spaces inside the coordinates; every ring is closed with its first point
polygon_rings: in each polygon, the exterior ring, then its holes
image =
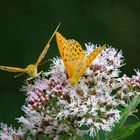
{"type": "Polygon", "coordinates": [[[121,140],[123,138],[126,138],[130,135],[132,135],[135,132],[135,129],[140,127],[140,122],[137,122],[135,124],[131,124],[128,126],[124,126],[122,128],[118,128],[113,135],[109,138],[109,140],[121,140]]]}

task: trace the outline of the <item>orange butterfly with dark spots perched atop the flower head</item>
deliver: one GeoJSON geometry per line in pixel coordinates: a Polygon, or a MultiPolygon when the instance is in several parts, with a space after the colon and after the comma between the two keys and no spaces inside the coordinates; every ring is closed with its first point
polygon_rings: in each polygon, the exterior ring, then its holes
{"type": "Polygon", "coordinates": [[[86,55],[81,45],[76,40],[67,40],[59,32],[56,32],[56,41],[72,85],[78,82],[86,69],[91,65],[92,61],[105,47],[104,45],[103,47],[95,48],[91,53],[86,55]]]}

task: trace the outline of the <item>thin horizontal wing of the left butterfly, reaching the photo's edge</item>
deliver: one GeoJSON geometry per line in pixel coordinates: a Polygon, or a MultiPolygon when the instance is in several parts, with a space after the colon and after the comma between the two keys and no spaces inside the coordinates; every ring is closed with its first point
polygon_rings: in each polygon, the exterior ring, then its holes
{"type": "Polygon", "coordinates": [[[0,66],[0,69],[9,72],[23,72],[23,73],[27,72],[26,69],[18,67],[0,66]]]}

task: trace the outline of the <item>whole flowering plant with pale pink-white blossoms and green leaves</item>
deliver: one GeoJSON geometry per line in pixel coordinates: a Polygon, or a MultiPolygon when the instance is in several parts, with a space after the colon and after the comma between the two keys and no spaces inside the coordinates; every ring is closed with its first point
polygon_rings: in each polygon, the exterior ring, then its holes
{"type": "MultiPolygon", "coordinates": [[[[86,44],[86,53],[97,46],[86,44]]],[[[105,48],[84,75],[71,85],[61,58],[27,82],[22,90],[24,116],[18,129],[1,123],[2,140],[120,140],[134,133],[140,122],[124,125],[140,103],[140,72],[121,76],[122,51],[105,48]]]]}

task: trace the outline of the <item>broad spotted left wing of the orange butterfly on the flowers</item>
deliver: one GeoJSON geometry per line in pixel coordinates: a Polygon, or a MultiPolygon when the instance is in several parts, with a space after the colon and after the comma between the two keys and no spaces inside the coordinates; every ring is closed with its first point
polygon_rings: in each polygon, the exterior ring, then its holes
{"type": "Polygon", "coordinates": [[[69,78],[75,73],[77,62],[84,58],[85,53],[81,45],[74,39],[67,40],[60,33],[56,32],[56,40],[61,58],[64,62],[69,78]]]}

